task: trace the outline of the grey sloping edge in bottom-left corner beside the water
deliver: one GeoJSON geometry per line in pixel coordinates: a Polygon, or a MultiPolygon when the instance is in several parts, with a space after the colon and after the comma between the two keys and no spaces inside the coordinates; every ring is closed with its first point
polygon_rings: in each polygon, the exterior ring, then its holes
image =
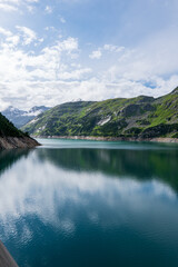
{"type": "Polygon", "coordinates": [[[0,241],[0,266],[1,267],[18,267],[14,259],[9,254],[8,249],[0,241]]]}

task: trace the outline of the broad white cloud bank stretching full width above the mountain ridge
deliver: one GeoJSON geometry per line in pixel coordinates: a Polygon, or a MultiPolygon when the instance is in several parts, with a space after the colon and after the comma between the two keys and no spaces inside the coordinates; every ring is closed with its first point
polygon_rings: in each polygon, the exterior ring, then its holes
{"type": "Polygon", "coordinates": [[[41,38],[26,27],[17,27],[17,30],[13,33],[0,29],[3,37],[0,47],[1,107],[10,103],[28,109],[39,102],[55,106],[79,97],[83,100],[103,100],[138,95],[161,96],[178,83],[175,73],[164,77],[164,73],[177,68],[174,57],[176,37],[169,40],[170,43],[165,43],[172,46],[168,49],[167,59],[166,53],[165,58],[161,57],[165,46],[159,47],[159,41],[162,41],[159,36],[160,40],[155,38],[155,43],[147,41],[136,49],[105,44],[96,50],[102,55],[98,56],[100,59],[97,57],[99,60],[96,66],[92,61],[91,65],[81,63],[77,38],[58,37],[51,46],[42,46],[38,52],[26,51],[26,46],[40,43],[41,38]],[[19,47],[19,43],[26,46],[19,47]],[[159,60],[157,62],[151,46],[159,48],[157,59],[160,58],[162,63],[159,60]],[[149,87],[150,83],[155,89],[149,87]]]}

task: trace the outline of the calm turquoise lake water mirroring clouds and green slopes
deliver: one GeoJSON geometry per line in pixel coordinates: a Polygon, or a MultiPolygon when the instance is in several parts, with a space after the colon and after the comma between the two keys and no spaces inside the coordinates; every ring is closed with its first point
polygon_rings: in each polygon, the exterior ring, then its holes
{"type": "Polygon", "coordinates": [[[178,266],[178,146],[40,142],[0,152],[0,239],[20,267],[178,266]]]}

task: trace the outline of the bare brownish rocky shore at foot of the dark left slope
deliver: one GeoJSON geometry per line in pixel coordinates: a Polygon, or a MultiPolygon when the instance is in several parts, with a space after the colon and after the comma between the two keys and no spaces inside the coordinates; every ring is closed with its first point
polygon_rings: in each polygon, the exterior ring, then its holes
{"type": "Polygon", "coordinates": [[[33,138],[23,137],[0,137],[0,149],[33,148],[40,146],[33,138]]]}

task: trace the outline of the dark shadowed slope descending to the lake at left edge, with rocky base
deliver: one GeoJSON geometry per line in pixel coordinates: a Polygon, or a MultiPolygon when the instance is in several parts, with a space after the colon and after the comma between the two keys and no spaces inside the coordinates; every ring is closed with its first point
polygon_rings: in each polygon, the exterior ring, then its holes
{"type": "Polygon", "coordinates": [[[31,148],[39,144],[28,134],[18,130],[3,115],[0,113],[0,149],[31,148]]]}

